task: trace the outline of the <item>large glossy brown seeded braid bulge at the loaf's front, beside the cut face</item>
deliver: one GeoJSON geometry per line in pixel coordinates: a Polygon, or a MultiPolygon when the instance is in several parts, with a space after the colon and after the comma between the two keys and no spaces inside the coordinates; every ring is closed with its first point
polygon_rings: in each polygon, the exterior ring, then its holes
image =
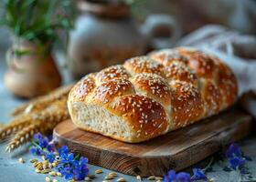
{"type": "Polygon", "coordinates": [[[164,134],[168,128],[168,118],[165,109],[155,100],[140,95],[119,97],[110,109],[136,132],[134,141],[144,141],[164,134]]]}

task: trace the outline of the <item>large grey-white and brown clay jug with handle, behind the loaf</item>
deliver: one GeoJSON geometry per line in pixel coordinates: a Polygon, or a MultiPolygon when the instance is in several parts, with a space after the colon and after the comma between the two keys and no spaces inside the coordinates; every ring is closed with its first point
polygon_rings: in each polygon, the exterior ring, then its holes
{"type": "Polygon", "coordinates": [[[138,26],[127,5],[80,1],[78,6],[82,15],[70,33],[68,46],[69,70],[76,78],[144,55],[149,45],[159,45],[152,41],[156,39],[156,29],[171,32],[165,36],[167,45],[172,43],[173,33],[176,33],[176,24],[170,16],[154,18],[152,15],[144,25],[138,26]]]}

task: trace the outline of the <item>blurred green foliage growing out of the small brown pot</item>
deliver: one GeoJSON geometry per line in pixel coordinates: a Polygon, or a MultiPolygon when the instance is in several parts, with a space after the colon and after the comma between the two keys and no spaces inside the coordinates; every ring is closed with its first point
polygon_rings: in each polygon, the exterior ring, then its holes
{"type": "Polygon", "coordinates": [[[14,35],[37,44],[58,39],[58,31],[73,27],[75,11],[70,0],[2,0],[1,25],[14,35]]]}

